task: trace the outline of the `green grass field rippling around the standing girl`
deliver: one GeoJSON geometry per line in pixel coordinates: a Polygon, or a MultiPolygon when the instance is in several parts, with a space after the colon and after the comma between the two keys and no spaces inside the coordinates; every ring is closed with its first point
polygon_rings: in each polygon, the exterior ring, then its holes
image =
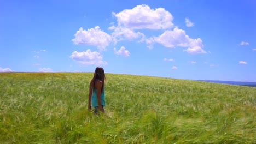
{"type": "Polygon", "coordinates": [[[256,143],[256,88],[106,74],[106,114],[87,110],[93,73],[0,73],[0,143],[256,143]]]}

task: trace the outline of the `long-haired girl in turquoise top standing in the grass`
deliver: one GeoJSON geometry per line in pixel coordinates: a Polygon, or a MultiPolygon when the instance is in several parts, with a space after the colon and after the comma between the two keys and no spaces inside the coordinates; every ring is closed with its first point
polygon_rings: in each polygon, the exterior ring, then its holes
{"type": "Polygon", "coordinates": [[[98,111],[105,113],[105,89],[104,81],[106,80],[104,69],[97,67],[94,72],[94,77],[92,77],[89,89],[89,99],[88,99],[88,110],[92,107],[95,108],[94,113],[98,111]]]}

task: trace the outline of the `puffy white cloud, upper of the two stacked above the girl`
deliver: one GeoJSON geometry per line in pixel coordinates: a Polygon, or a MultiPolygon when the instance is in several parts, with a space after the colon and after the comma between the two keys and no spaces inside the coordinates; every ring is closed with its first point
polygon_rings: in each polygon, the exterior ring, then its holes
{"type": "Polygon", "coordinates": [[[72,41],[74,41],[74,44],[92,45],[97,46],[100,50],[105,50],[112,39],[109,34],[101,31],[100,27],[97,26],[87,31],[81,27],[72,41]]]}

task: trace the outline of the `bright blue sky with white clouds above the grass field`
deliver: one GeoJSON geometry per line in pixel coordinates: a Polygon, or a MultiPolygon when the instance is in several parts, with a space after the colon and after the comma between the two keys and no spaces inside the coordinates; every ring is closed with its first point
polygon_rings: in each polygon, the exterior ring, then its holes
{"type": "Polygon", "coordinates": [[[0,71],[256,82],[256,1],[0,1],[0,71]]]}

